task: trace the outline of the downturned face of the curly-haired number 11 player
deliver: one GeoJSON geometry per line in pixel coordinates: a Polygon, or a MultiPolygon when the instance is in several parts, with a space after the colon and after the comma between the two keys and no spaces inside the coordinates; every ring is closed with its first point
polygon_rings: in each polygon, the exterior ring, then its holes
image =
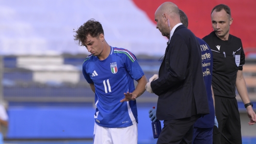
{"type": "Polygon", "coordinates": [[[103,51],[104,35],[100,34],[99,37],[92,37],[90,34],[87,36],[87,42],[84,43],[88,52],[94,56],[100,56],[103,51]]]}

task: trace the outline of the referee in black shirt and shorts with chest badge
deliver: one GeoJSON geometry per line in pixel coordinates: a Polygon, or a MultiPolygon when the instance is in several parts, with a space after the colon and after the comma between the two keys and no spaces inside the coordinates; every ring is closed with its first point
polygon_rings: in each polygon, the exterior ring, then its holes
{"type": "Polygon", "coordinates": [[[240,114],[236,100],[236,88],[247,110],[249,125],[256,123],[253,103],[247,93],[242,66],[245,55],[240,38],[229,34],[233,22],[230,8],[220,4],[211,11],[212,31],[203,40],[213,54],[212,87],[215,97],[215,115],[219,130],[224,134],[222,144],[242,144],[240,114]]]}

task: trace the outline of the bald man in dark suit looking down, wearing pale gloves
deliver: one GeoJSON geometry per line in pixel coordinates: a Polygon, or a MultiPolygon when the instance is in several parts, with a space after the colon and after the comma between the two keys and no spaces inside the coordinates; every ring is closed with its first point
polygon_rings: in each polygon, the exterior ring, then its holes
{"type": "Polygon", "coordinates": [[[209,113],[200,44],[180,23],[174,3],[161,4],[155,20],[157,29],[169,38],[159,77],[154,75],[146,85],[148,92],[159,96],[157,118],[164,120],[157,144],[191,144],[193,124],[209,113]]]}

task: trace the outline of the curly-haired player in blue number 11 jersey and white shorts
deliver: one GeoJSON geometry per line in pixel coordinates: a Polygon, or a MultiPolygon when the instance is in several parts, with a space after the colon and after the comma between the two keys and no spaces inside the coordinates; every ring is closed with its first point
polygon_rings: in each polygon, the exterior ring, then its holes
{"type": "Polygon", "coordinates": [[[74,37],[92,54],[84,60],[82,72],[95,92],[94,144],[137,144],[136,98],[144,93],[147,80],[136,57],[110,46],[95,19],[80,26],[74,37]]]}

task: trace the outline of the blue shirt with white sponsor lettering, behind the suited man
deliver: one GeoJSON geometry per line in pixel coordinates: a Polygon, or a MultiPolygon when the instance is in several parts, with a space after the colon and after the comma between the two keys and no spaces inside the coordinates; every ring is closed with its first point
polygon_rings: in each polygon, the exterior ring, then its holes
{"type": "Polygon", "coordinates": [[[209,104],[209,114],[200,117],[194,124],[198,128],[211,128],[214,126],[214,105],[211,94],[212,64],[213,58],[209,45],[202,39],[197,38],[202,51],[202,68],[209,104]]]}

